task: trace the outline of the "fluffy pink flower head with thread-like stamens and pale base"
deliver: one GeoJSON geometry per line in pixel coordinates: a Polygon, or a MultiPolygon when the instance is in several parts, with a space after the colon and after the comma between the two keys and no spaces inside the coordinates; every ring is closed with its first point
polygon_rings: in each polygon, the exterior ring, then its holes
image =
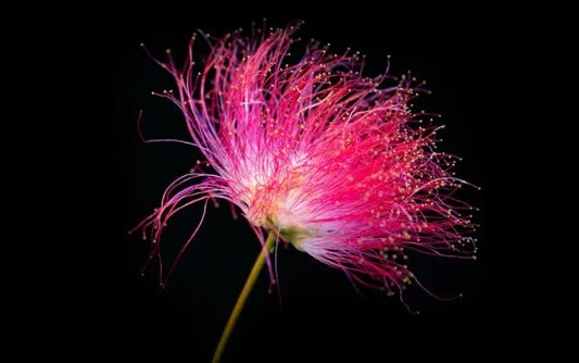
{"type": "Polygon", "coordinates": [[[423,85],[364,77],[357,53],[331,54],[314,42],[288,64],[293,32],[210,40],[200,73],[194,37],[182,68],[168,51],[167,63],[159,62],[177,84],[159,96],[182,111],[206,161],[175,180],[141,223],[152,253],[172,215],[199,202],[205,212],[210,200],[224,199],[262,246],[274,231],[389,292],[417,281],[405,265],[408,250],[473,259],[473,224],[462,215],[471,208],[454,196],[465,182],[450,171],[457,158],[437,151],[442,126],[423,124],[428,116],[410,107],[423,85]]]}

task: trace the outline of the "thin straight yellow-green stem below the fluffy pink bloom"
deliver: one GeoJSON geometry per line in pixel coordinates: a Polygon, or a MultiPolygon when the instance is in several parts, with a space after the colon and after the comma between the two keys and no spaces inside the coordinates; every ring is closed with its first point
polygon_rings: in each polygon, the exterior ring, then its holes
{"type": "Polygon", "coordinates": [[[239,317],[239,314],[241,313],[241,310],[243,309],[243,305],[246,304],[246,301],[248,300],[248,297],[251,290],[253,289],[255,281],[257,280],[257,276],[260,276],[260,272],[262,271],[263,265],[265,263],[265,255],[274,247],[275,240],[276,234],[274,231],[270,231],[267,236],[267,239],[265,240],[265,246],[263,247],[262,251],[260,251],[260,255],[257,255],[257,260],[255,260],[255,263],[251,268],[251,272],[248,276],[248,279],[246,280],[246,285],[243,285],[241,293],[237,298],[236,305],[234,308],[234,311],[231,312],[231,315],[229,315],[229,320],[227,321],[225,329],[223,330],[222,338],[219,340],[217,349],[215,350],[215,354],[213,355],[212,363],[218,363],[222,359],[225,345],[227,343],[227,340],[229,340],[229,336],[234,330],[234,327],[237,323],[237,318],[239,317]]]}

